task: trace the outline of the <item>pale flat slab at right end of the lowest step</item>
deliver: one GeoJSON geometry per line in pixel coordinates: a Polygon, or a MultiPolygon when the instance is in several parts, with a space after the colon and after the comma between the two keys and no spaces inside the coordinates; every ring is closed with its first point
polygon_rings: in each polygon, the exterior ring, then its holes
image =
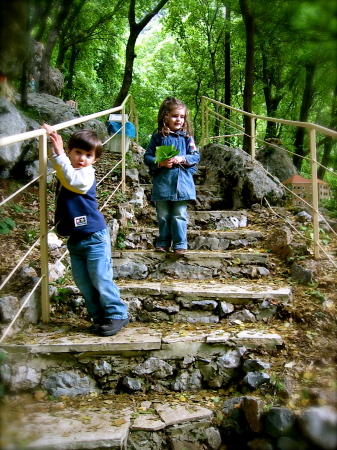
{"type": "Polygon", "coordinates": [[[155,405],[155,410],[165,422],[166,426],[176,425],[184,422],[193,422],[201,419],[211,419],[213,411],[198,405],[175,405],[168,403],[155,405]]]}

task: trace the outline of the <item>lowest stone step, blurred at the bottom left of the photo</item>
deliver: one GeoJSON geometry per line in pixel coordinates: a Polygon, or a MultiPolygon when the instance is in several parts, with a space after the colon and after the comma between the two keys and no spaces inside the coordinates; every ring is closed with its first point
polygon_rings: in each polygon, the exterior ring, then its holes
{"type": "MultiPolygon", "coordinates": [[[[215,397],[214,393],[209,395],[210,399],[215,397]]],[[[17,420],[9,422],[4,417],[5,445],[1,448],[150,449],[168,448],[166,445],[184,448],[183,444],[190,443],[194,435],[192,443],[196,448],[201,448],[198,440],[208,442],[211,445],[208,448],[219,448],[220,432],[212,423],[216,416],[214,407],[196,404],[193,395],[192,400],[184,403],[171,398],[163,401],[162,397],[138,402],[118,395],[113,399],[84,397],[81,406],[76,401],[70,406],[55,400],[26,402],[20,405],[17,420]]]]}

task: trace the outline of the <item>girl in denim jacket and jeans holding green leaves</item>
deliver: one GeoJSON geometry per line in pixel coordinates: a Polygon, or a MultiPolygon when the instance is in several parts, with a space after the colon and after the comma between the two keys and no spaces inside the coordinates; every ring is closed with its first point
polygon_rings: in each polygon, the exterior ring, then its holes
{"type": "Polygon", "coordinates": [[[159,238],[156,250],[174,253],[187,249],[187,201],[195,200],[193,174],[200,159],[190,132],[188,110],[181,100],[167,97],[158,112],[158,128],[152,135],[144,162],[153,177],[151,200],[156,204],[159,238]],[[155,162],[156,147],[174,145],[177,156],[155,162]]]}

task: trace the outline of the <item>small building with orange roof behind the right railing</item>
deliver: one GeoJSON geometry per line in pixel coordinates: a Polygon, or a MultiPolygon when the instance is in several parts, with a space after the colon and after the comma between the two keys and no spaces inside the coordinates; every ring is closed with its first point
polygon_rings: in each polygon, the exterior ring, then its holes
{"type": "MultiPolygon", "coordinates": [[[[312,205],[312,180],[306,180],[300,175],[293,175],[292,177],[283,181],[283,184],[290,189],[298,197],[292,196],[289,203],[293,206],[304,206],[306,203],[312,205]]],[[[317,179],[318,201],[328,200],[330,197],[330,187],[325,181],[317,179]]]]}

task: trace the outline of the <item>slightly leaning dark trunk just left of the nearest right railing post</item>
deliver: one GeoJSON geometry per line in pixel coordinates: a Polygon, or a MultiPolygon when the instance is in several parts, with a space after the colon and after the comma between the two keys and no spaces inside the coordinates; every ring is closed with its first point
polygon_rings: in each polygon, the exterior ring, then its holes
{"type": "MultiPolygon", "coordinates": [[[[307,63],[305,65],[306,77],[305,77],[305,87],[303,91],[301,109],[300,109],[300,122],[307,122],[309,117],[309,111],[312,105],[314,88],[313,88],[313,80],[316,70],[316,63],[307,63]]],[[[304,137],[305,137],[306,129],[303,127],[297,127],[295,142],[294,142],[294,151],[295,154],[293,156],[293,163],[297,170],[301,171],[301,166],[303,162],[303,156],[306,156],[309,153],[309,150],[304,149],[304,137]]]]}

